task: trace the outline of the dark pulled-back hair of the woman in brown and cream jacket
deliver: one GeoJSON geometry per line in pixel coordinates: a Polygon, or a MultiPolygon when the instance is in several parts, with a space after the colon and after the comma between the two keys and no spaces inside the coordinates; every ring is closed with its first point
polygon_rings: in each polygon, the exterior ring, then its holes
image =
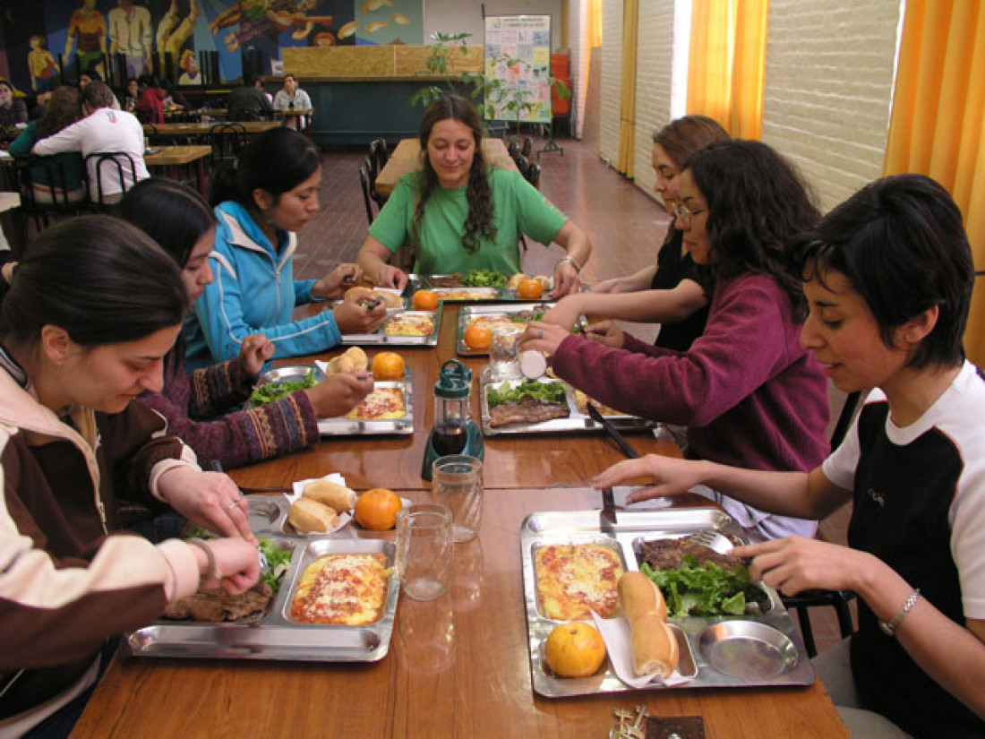
{"type": "Polygon", "coordinates": [[[177,265],[150,236],[80,216],[34,239],[0,309],[0,336],[31,347],[53,325],[84,347],[121,344],[176,326],[187,305],[177,265]]]}

